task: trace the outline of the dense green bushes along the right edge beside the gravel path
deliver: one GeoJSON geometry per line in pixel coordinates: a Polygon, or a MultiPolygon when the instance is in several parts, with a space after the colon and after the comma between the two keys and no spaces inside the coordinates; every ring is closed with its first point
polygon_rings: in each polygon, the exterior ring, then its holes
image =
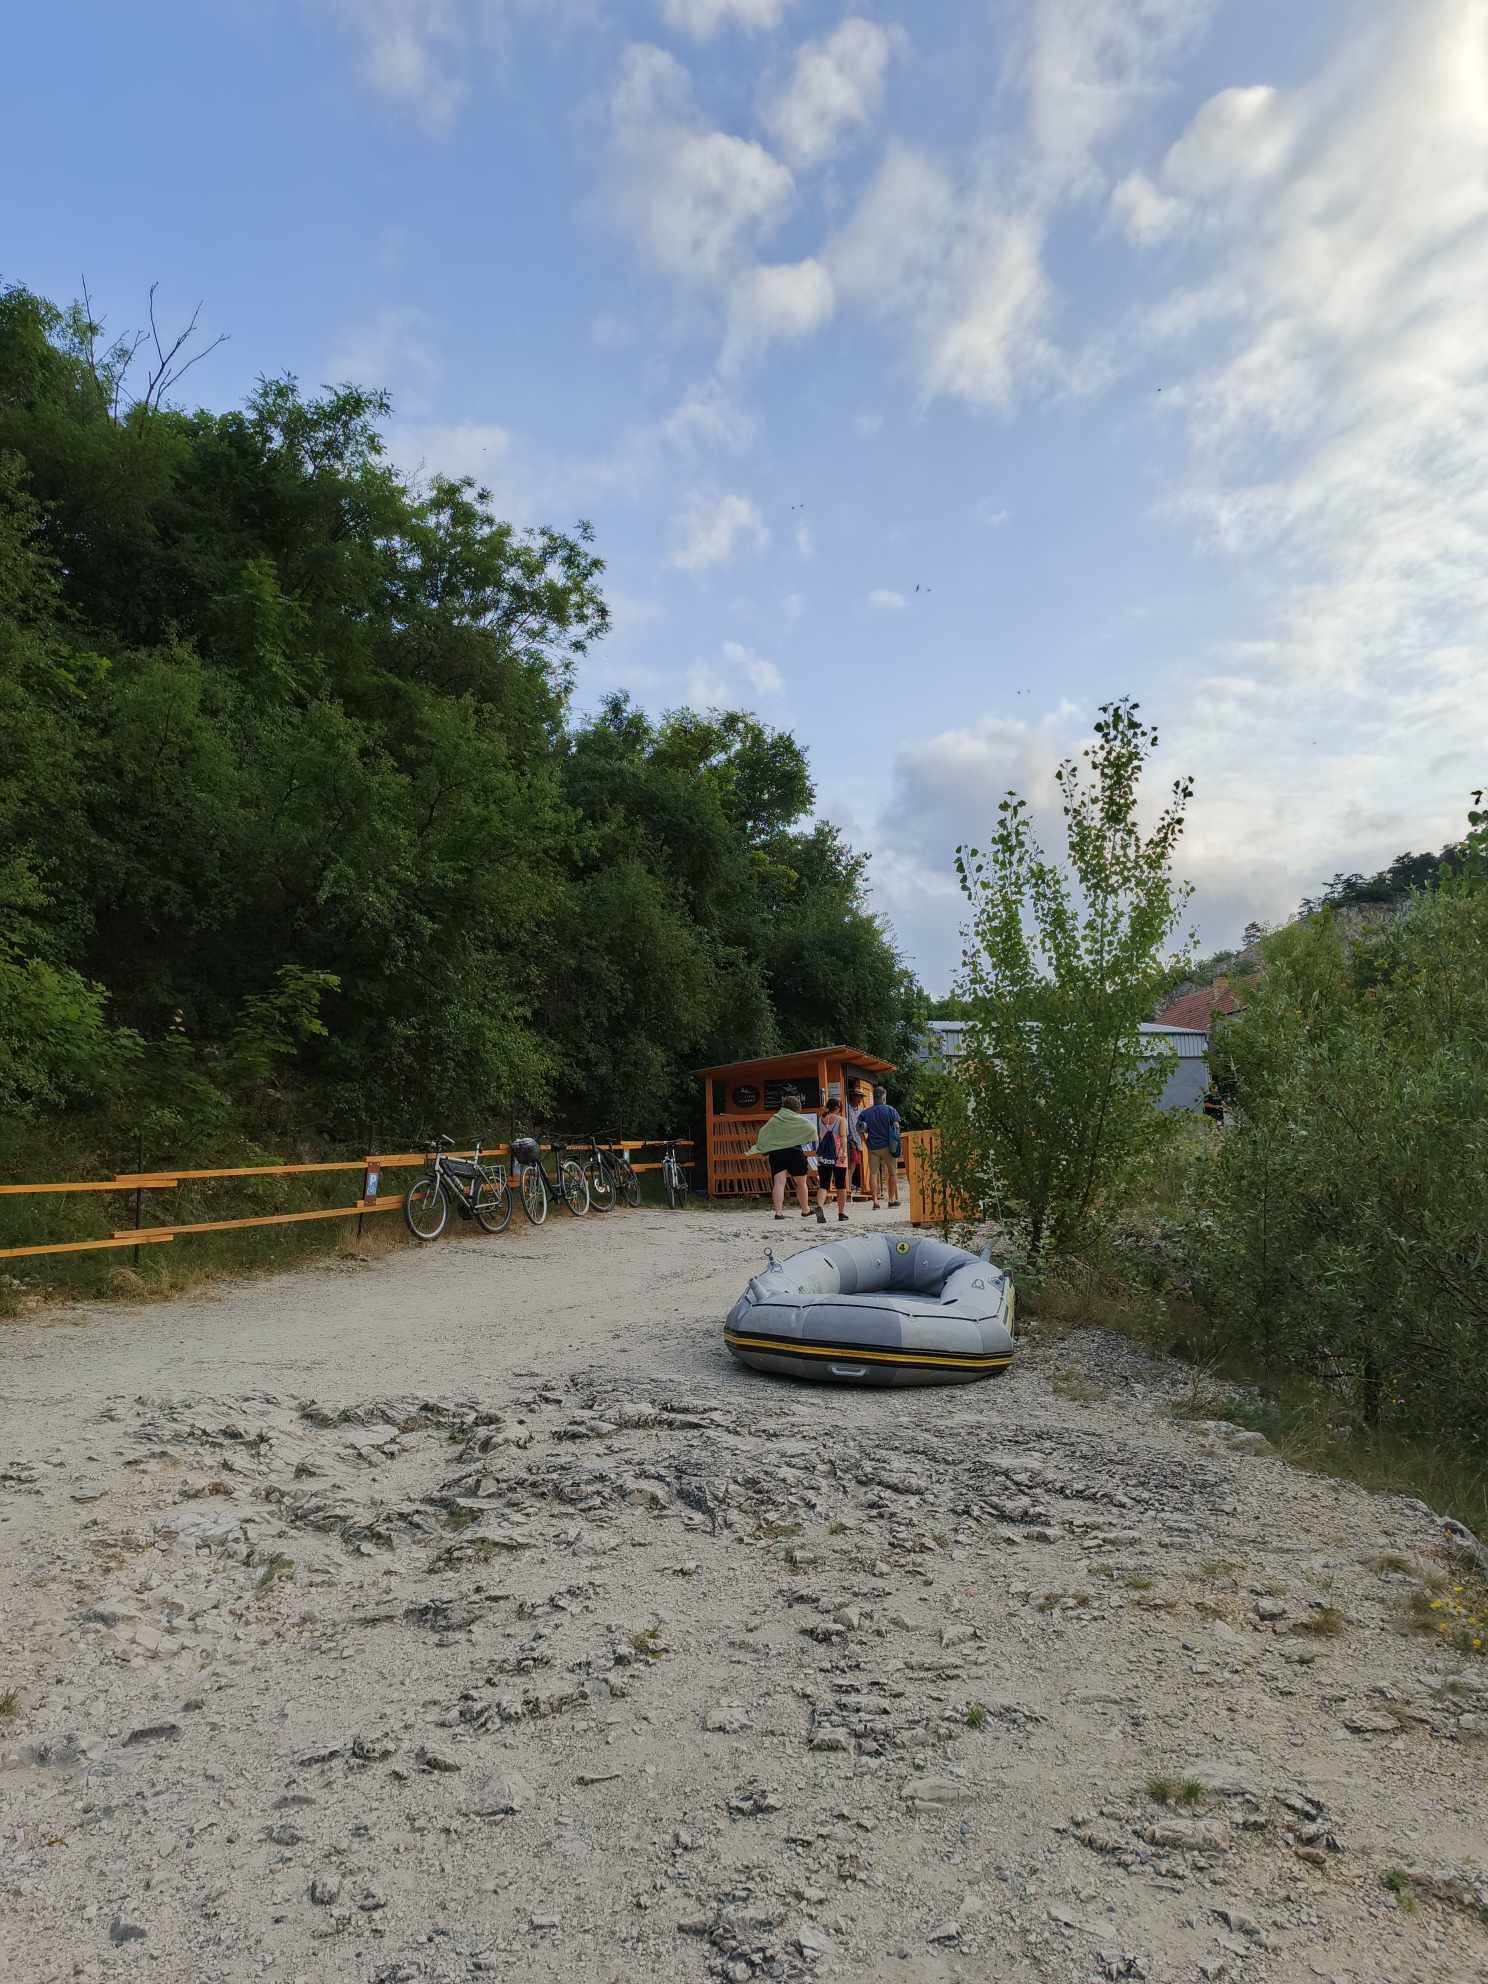
{"type": "Polygon", "coordinates": [[[1325,1381],[1365,1426],[1488,1452],[1488,845],[1345,940],[1264,940],[1216,1034],[1240,1119],[1190,1232],[1222,1341],[1325,1381]]]}

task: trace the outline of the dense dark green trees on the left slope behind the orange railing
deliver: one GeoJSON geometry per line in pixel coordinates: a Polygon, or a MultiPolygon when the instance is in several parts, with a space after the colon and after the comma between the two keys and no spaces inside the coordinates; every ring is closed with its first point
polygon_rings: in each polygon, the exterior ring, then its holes
{"type": "Polygon", "coordinates": [[[573,716],[607,625],[587,526],[411,482],[381,395],[186,413],[131,359],[0,294],[12,1151],[38,1119],[123,1167],[643,1135],[706,1059],[903,1057],[917,988],[794,738],[573,716]]]}

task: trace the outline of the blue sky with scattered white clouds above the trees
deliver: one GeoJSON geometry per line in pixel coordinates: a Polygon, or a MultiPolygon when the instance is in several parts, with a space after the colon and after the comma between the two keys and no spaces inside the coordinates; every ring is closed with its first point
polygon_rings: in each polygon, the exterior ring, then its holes
{"type": "Polygon", "coordinates": [[[790,728],[934,992],[956,843],[1057,847],[1115,696],[1204,948],[1488,782],[1488,0],[63,0],[0,62],[0,280],[589,518],[577,706],[790,728]]]}

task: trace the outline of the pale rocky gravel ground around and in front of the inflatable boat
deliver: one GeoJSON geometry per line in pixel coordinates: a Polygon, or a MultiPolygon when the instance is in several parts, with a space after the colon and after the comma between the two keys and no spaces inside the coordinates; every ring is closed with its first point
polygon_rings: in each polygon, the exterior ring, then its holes
{"type": "Polygon", "coordinates": [[[1440,1524],[1097,1333],[746,1373],[778,1232],[0,1325],[0,1976],[1488,1980],[1440,1524]]]}

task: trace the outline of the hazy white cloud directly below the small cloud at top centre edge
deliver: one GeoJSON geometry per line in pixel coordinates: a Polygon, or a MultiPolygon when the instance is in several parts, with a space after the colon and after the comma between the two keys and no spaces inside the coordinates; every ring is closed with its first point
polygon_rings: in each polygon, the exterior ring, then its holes
{"type": "Polygon", "coordinates": [[[764,145],[708,129],[686,69],[665,50],[625,50],[609,117],[609,196],[663,274],[722,282],[784,218],[790,171],[764,145]]]}

